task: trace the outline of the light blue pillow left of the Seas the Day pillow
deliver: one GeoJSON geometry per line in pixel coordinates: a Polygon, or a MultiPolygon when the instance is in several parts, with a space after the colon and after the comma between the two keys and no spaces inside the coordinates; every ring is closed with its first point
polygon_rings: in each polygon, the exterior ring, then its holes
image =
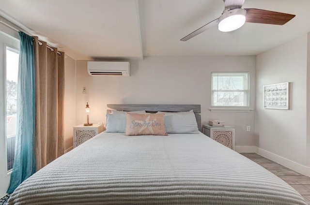
{"type": "Polygon", "coordinates": [[[107,126],[105,132],[125,132],[126,114],[107,114],[107,126]]]}

